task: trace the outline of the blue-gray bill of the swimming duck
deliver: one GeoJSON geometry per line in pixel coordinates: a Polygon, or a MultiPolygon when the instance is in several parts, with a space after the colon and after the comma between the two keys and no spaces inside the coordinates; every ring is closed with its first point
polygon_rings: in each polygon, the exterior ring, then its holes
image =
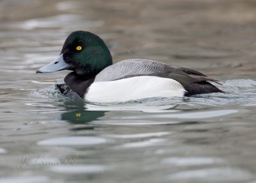
{"type": "Polygon", "coordinates": [[[36,70],[36,73],[56,72],[56,71],[68,69],[68,67],[70,67],[70,65],[65,63],[65,61],[63,60],[63,54],[61,54],[60,56],[58,56],[58,58],[56,58],[54,61],[52,61],[48,65],[38,68],[38,70],[36,70]]]}

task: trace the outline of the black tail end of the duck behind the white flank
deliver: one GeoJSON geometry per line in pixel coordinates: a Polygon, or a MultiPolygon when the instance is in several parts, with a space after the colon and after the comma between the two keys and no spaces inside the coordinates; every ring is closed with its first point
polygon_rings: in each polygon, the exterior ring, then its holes
{"type": "Polygon", "coordinates": [[[225,93],[207,81],[190,83],[187,86],[184,86],[184,88],[187,91],[185,93],[185,96],[187,96],[187,97],[189,97],[191,95],[195,95],[195,94],[202,94],[202,93],[215,93],[215,92],[225,93]]]}

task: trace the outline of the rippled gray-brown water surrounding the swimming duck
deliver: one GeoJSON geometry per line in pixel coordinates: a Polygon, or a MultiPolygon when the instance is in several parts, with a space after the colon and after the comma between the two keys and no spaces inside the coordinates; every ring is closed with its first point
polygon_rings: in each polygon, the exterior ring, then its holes
{"type": "Polygon", "coordinates": [[[253,1],[0,1],[0,182],[255,182],[253,1]],[[63,97],[35,74],[92,31],[114,61],[146,58],[225,81],[174,99],[63,97]]]}

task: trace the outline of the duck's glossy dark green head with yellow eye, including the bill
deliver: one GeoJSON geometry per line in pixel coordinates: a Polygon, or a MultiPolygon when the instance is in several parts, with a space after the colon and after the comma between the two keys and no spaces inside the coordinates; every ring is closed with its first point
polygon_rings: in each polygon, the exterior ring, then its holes
{"type": "Polygon", "coordinates": [[[73,70],[79,75],[97,74],[112,65],[112,57],[104,41],[87,31],[71,33],[54,61],[36,70],[36,73],[73,70]]]}

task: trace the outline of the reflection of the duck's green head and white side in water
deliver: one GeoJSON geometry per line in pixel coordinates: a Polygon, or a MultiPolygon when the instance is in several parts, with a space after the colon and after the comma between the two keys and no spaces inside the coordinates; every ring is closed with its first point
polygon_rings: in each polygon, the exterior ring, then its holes
{"type": "Polygon", "coordinates": [[[107,112],[116,113],[170,113],[170,111],[179,111],[175,109],[179,105],[180,99],[176,101],[170,100],[146,100],[145,102],[125,102],[120,104],[92,104],[83,100],[68,100],[64,102],[66,111],[61,115],[61,120],[70,123],[88,123],[95,120],[100,120],[107,112]],[[158,102],[159,106],[153,105],[158,102]],[[160,105],[161,104],[161,105],[160,105]]]}

